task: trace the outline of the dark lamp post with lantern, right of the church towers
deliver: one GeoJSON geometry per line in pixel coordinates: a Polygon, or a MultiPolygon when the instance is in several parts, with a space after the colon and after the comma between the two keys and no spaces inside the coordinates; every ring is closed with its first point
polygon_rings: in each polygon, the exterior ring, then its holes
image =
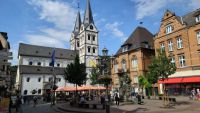
{"type": "Polygon", "coordinates": [[[111,82],[111,77],[108,75],[108,66],[107,62],[109,61],[108,59],[108,50],[104,48],[102,50],[102,58],[98,58],[98,63],[100,64],[100,71],[101,75],[99,76],[99,80],[101,83],[103,83],[106,86],[106,113],[110,113],[110,105],[109,105],[109,94],[108,94],[108,85],[111,82]]]}

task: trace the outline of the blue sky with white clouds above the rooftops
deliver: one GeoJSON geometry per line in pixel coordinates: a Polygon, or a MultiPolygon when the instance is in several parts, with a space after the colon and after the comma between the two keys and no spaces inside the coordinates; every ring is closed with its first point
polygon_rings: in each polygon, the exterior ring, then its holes
{"type": "MultiPolygon", "coordinates": [[[[17,64],[20,42],[69,48],[80,2],[83,19],[86,0],[1,0],[0,31],[8,33],[17,64]]],[[[131,32],[142,26],[155,34],[164,12],[179,16],[200,8],[199,0],[91,0],[95,25],[99,32],[99,53],[103,47],[115,54],[131,32]]]]}

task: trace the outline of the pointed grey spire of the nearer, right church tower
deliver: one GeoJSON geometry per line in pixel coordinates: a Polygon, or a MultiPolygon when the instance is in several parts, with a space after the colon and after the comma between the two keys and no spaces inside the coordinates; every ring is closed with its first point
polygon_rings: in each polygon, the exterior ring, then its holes
{"type": "Polygon", "coordinates": [[[84,16],[84,20],[83,20],[83,24],[85,26],[87,26],[88,24],[93,23],[93,16],[92,16],[92,10],[90,7],[90,0],[87,0],[87,6],[86,6],[86,10],[85,10],[85,16],[84,16]]]}

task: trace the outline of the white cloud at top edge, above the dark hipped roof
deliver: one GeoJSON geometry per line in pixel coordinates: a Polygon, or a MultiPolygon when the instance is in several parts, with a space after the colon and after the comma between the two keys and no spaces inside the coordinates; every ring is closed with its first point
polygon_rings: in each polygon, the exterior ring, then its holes
{"type": "Polygon", "coordinates": [[[156,14],[167,4],[167,0],[131,0],[136,3],[136,19],[156,14]]]}

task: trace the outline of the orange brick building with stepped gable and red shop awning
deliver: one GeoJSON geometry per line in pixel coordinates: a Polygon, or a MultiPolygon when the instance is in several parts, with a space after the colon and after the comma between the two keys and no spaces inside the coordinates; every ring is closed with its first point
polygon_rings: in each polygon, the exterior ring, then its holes
{"type": "Polygon", "coordinates": [[[200,9],[184,16],[167,10],[154,45],[155,50],[165,50],[177,67],[169,79],[159,81],[160,93],[163,93],[163,84],[170,94],[183,94],[192,88],[200,88],[200,9]]]}

